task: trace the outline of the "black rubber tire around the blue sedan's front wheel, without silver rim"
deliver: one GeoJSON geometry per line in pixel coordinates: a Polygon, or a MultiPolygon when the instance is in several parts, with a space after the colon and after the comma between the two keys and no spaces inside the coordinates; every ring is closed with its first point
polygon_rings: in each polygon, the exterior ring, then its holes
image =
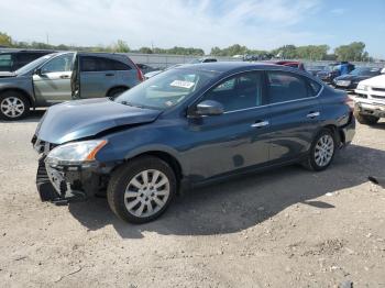
{"type": "Polygon", "coordinates": [[[120,167],[113,173],[108,187],[107,198],[111,210],[119,218],[130,223],[140,224],[150,222],[163,214],[173,201],[176,195],[176,189],[177,184],[175,173],[169,165],[157,157],[144,156],[131,162],[129,160],[127,165],[120,167]],[[124,191],[131,179],[146,169],[157,169],[166,175],[169,181],[169,196],[166,203],[155,214],[146,218],[139,218],[127,210],[124,204],[124,191]]]}

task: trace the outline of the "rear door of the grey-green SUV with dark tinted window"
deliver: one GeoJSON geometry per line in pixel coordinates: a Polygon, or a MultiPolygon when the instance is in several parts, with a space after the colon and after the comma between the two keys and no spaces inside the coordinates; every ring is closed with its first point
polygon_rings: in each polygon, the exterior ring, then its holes
{"type": "Polygon", "coordinates": [[[114,62],[102,56],[81,55],[80,98],[106,97],[117,81],[114,62]]]}

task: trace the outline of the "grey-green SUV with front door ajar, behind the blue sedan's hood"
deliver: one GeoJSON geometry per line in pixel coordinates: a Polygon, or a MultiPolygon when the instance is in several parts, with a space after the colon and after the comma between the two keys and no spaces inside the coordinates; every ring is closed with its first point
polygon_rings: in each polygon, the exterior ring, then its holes
{"type": "Polygon", "coordinates": [[[45,55],[14,74],[0,74],[0,118],[19,120],[30,108],[73,99],[114,98],[142,80],[141,70],[122,54],[45,55]]]}

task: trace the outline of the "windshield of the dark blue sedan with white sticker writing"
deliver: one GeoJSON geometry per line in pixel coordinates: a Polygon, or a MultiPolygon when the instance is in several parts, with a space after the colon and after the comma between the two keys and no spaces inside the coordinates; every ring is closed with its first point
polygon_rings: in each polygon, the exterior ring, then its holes
{"type": "Polygon", "coordinates": [[[213,71],[175,68],[156,75],[114,99],[116,102],[165,110],[180,103],[216,77],[213,71]]]}

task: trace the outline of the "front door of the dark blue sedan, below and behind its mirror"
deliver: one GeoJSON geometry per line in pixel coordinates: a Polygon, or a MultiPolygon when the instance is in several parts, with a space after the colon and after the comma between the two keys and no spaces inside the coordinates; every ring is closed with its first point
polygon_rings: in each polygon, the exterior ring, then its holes
{"type": "Polygon", "coordinates": [[[215,100],[221,115],[190,118],[188,163],[199,178],[262,165],[268,160],[268,107],[264,106],[264,76],[252,71],[233,76],[210,89],[199,100],[215,100]]]}

